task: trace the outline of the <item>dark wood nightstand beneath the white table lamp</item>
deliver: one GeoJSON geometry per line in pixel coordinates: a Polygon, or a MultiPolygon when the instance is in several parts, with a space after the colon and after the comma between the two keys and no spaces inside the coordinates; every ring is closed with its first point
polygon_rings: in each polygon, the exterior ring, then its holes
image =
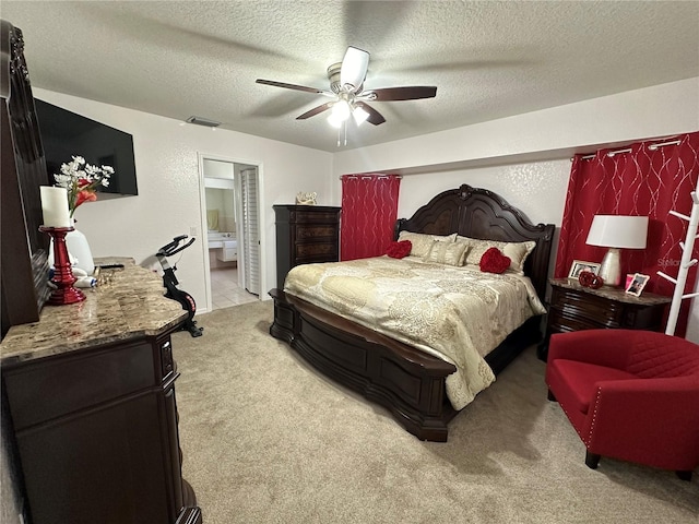
{"type": "Polygon", "coordinates": [[[671,297],[643,293],[636,297],[618,287],[583,287],[574,278],[552,278],[546,336],[538,357],[546,360],[554,333],[596,329],[662,331],[671,297]]]}

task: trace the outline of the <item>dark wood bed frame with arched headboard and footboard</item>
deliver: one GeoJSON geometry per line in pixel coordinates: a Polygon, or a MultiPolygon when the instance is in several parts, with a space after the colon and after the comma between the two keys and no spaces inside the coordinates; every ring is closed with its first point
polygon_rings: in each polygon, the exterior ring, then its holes
{"type": "MultiPolygon", "coordinates": [[[[403,238],[405,231],[412,231],[452,238],[458,235],[460,239],[531,242],[533,247],[523,273],[531,281],[534,298],[543,302],[554,229],[550,224],[533,225],[522,212],[491,191],[463,184],[436,195],[411,218],[398,221],[394,237],[403,238]]],[[[379,259],[354,262],[352,271],[393,263],[386,257],[381,259],[386,262],[379,259]]],[[[410,262],[412,257],[407,259],[410,271],[422,272],[417,262],[410,262]]],[[[325,265],[299,266],[295,271],[313,273],[321,269],[313,266],[325,265]]],[[[410,337],[391,336],[383,327],[380,332],[366,321],[351,320],[331,305],[323,307],[320,298],[316,300],[312,295],[301,298],[301,289],[303,286],[296,291],[270,291],[274,300],[272,336],[288,343],[327,377],[387,407],[418,439],[447,441],[448,424],[463,407],[463,403],[455,403],[459,409],[455,408],[449,398],[450,394],[453,396],[453,379],[462,372],[461,365],[458,369],[454,360],[418,348],[420,345],[411,343],[410,337]]],[[[533,314],[493,350],[477,348],[485,355],[487,372],[499,373],[525,347],[538,342],[540,325],[541,317],[533,314]]],[[[487,377],[484,380],[488,382],[487,377]]]]}

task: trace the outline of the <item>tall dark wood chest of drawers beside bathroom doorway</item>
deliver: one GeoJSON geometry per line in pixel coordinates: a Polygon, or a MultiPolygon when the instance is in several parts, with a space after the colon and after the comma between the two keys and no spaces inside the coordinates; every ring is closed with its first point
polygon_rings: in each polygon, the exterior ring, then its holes
{"type": "Polygon", "coordinates": [[[296,265],[340,260],[340,207],[274,205],[276,287],[296,265]]]}

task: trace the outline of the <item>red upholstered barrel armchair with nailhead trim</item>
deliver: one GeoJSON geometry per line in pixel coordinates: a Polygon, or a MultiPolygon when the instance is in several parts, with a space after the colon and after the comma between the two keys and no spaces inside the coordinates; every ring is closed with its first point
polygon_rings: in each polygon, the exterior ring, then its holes
{"type": "Polygon", "coordinates": [[[699,466],[698,345],[650,331],[554,334],[546,384],[585,444],[589,467],[609,456],[691,479],[699,466]]]}

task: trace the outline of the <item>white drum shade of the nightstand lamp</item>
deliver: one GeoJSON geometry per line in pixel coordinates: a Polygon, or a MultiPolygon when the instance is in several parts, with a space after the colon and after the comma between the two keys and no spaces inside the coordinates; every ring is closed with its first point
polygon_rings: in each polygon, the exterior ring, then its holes
{"type": "Polygon", "coordinates": [[[595,215],[587,243],[605,248],[645,249],[648,216],[595,215]]]}

